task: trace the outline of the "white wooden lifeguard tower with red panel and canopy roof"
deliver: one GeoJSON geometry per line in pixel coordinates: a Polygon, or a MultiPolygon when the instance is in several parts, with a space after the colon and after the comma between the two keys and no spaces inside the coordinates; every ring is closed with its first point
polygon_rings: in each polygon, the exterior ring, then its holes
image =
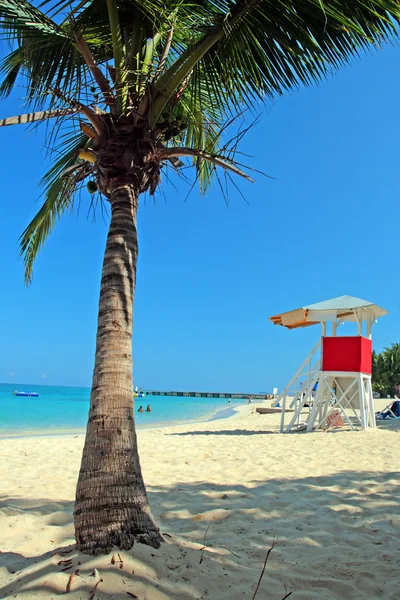
{"type": "Polygon", "coordinates": [[[273,406],[282,407],[281,433],[344,423],[351,429],[376,427],[371,331],[376,319],[386,314],[367,300],[340,296],[270,318],[274,325],[288,329],[322,326],[318,344],[274,401],[273,406]],[[357,335],[337,335],[346,321],[357,325],[357,335]]]}

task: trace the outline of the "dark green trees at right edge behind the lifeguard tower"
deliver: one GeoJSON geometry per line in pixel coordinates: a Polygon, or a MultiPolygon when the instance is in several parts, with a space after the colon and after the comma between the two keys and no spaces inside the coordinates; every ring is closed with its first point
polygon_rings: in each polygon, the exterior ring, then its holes
{"type": "Polygon", "coordinates": [[[372,388],[382,396],[395,396],[400,385],[400,343],[372,355],[372,388]]]}

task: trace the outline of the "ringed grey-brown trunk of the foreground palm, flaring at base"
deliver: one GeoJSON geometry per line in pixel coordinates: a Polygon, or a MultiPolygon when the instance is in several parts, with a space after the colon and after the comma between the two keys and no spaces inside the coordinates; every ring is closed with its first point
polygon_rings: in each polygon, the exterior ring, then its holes
{"type": "Polygon", "coordinates": [[[132,313],[136,282],[138,194],[111,194],[111,223],[101,278],[89,420],[76,490],[80,551],[101,554],[134,542],[159,547],[139,462],[133,411],[132,313]]]}

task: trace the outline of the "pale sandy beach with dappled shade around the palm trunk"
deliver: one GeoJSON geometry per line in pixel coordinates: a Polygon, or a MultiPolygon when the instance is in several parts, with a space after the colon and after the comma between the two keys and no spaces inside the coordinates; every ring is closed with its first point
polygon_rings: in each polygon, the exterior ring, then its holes
{"type": "Polygon", "coordinates": [[[165,543],[114,561],[73,547],[83,436],[1,439],[0,598],[57,598],[79,569],[71,600],[252,600],[273,541],[257,599],[400,598],[400,428],[279,435],[256,406],[139,431],[165,543]]]}

